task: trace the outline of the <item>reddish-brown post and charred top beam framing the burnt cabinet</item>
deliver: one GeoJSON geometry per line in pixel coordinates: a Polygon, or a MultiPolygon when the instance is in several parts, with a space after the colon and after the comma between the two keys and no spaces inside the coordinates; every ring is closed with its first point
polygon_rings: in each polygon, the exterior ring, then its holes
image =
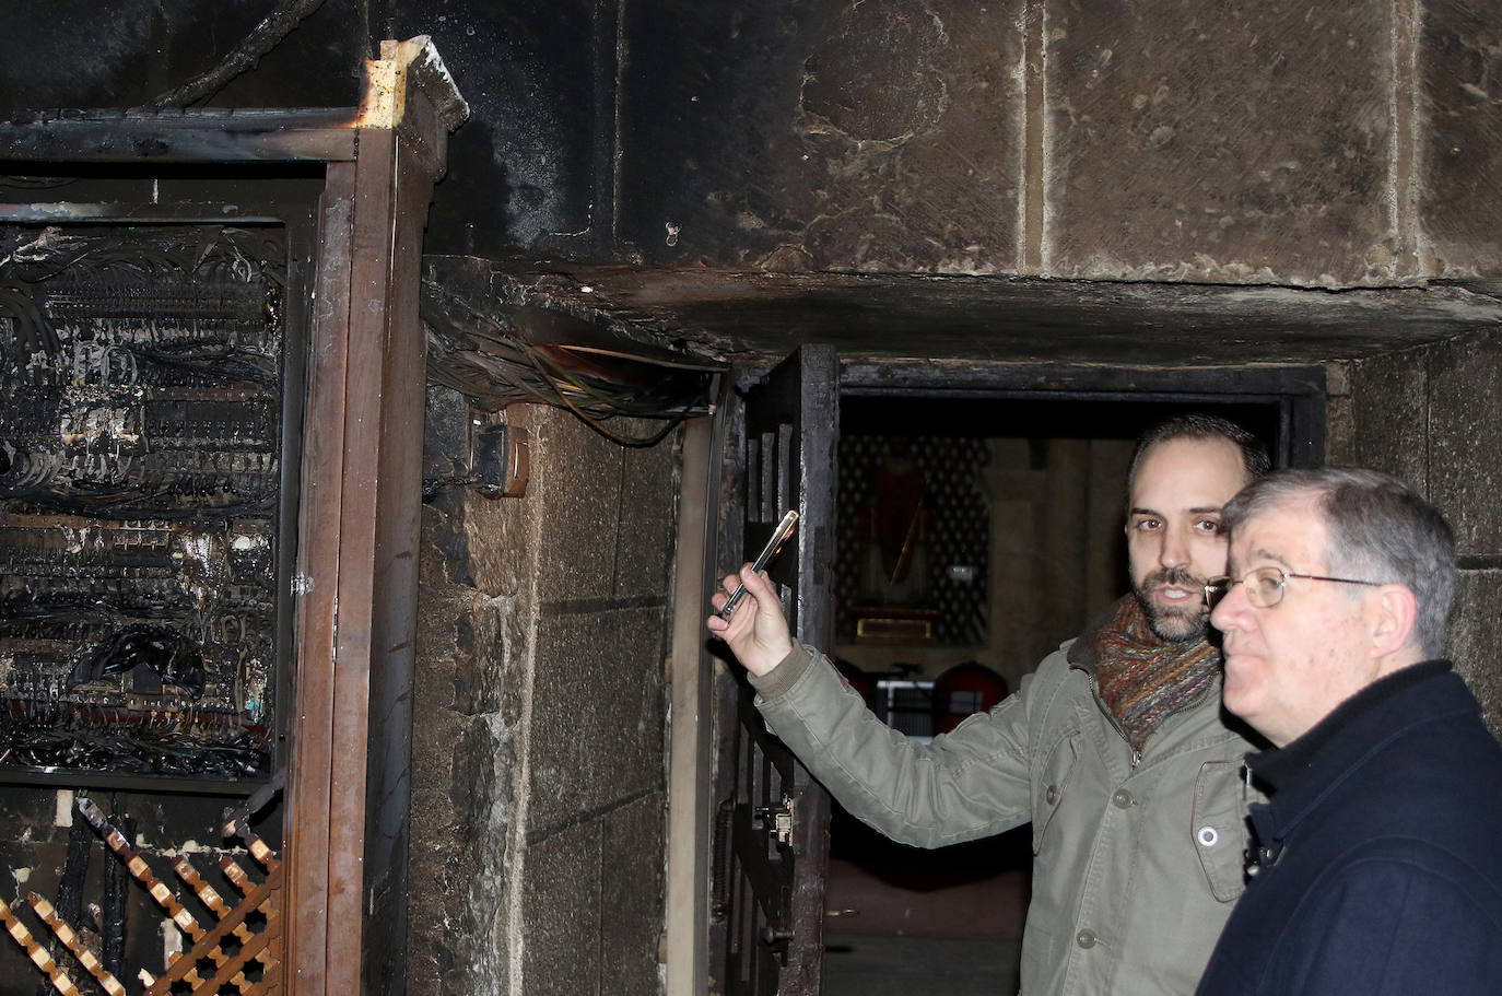
{"type": "MultiPolygon", "coordinates": [[[[0,128],[18,164],[321,164],[285,774],[282,991],[406,985],[422,493],[421,237],[467,116],[425,38],[382,42],[359,108],[80,111],[0,128]]],[[[87,209],[84,209],[87,210],[87,209]]],[[[171,218],[171,207],[119,221],[171,218]]],[[[296,361],[302,362],[302,361],[296,361]]],[[[287,452],[296,452],[288,449],[287,452]]]]}

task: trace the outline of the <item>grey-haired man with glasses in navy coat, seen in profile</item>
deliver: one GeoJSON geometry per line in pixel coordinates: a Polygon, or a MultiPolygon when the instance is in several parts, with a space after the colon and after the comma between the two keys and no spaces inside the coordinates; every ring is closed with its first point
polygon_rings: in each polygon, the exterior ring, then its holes
{"type": "Polygon", "coordinates": [[[1256,876],[1200,993],[1502,991],[1502,748],[1449,661],[1449,527],[1409,487],[1286,470],[1226,506],[1212,578],[1256,876]]]}

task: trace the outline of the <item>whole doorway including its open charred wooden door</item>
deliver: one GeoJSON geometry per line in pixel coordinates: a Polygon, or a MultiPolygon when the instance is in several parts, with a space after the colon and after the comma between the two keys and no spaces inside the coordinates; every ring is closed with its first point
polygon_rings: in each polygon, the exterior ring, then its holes
{"type": "MultiPolygon", "coordinates": [[[[889,718],[928,715],[934,726],[945,717],[924,708],[922,682],[969,664],[1015,688],[1092,608],[1125,590],[1122,491],[1143,428],[1203,410],[1262,436],[1278,466],[1325,452],[1320,367],[852,361],[805,344],[769,373],[737,371],[734,383],[719,422],[724,461],[713,461],[724,502],[709,562],[751,559],[783,511],[796,508],[798,542],[772,580],[784,611],[796,608],[798,638],[856,678],[886,682],[889,718]],[[883,494],[900,499],[888,502],[895,514],[871,506],[883,494]]],[[[934,976],[918,955],[900,958],[909,975],[858,964],[861,949],[891,954],[912,940],[915,924],[943,948],[945,966],[981,964],[976,984],[994,991],[990,966],[1015,963],[1030,849],[1002,835],[898,859],[885,841],[862,841],[849,820],[831,819],[828,795],[766,730],[753,697],[743,672],[716,670],[709,963],[722,991],[838,996],[844,985],[879,996],[880,982],[904,996],[960,993],[952,972],[934,976]],[[852,877],[826,889],[831,844],[847,861],[837,873],[852,877]],[[997,874],[1011,876],[1009,901],[987,882],[997,874]],[[871,892],[846,901],[843,885],[871,892]],[[955,916],[961,894],[987,915],[955,916]],[[955,937],[957,921],[990,934],[955,937]],[[1012,954],[963,954],[997,939],[1012,954]]],[[[987,705],[984,694],[970,699],[987,705]]]]}

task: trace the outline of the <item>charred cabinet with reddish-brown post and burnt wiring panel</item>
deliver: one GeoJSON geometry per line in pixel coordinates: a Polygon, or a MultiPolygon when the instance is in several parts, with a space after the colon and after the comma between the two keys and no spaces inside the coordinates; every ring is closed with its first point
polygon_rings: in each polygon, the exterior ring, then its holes
{"type": "Polygon", "coordinates": [[[267,991],[404,987],[418,267],[466,113],[415,39],[360,108],[0,126],[0,783],[285,784],[267,991]]]}

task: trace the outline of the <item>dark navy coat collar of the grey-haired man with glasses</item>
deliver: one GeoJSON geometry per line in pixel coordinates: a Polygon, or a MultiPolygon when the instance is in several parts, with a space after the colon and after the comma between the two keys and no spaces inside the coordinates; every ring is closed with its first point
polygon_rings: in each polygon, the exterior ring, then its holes
{"type": "Polygon", "coordinates": [[[1412,664],[1367,685],[1296,741],[1247,756],[1247,766],[1272,796],[1268,829],[1281,841],[1391,741],[1478,709],[1443,659],[1412,664]]]}

